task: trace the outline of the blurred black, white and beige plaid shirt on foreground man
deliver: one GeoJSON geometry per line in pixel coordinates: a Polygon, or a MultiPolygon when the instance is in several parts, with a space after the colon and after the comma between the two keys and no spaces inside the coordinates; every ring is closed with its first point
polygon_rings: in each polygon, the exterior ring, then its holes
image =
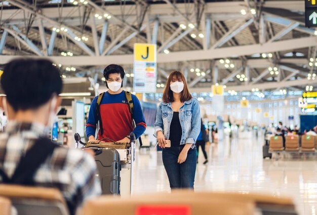
{"type": "MultiPolygon", "coordinates": [[[[45,127],[38,123],[9,122],[0,134],[0,168],[11,178],[21,159],[36,139],[45,137],[45,127]]],[[[67,202],[81,206],[89,197],[101,194],[93,157],[82,150],[55,148],[53,154],[37,169],[37,186],[57,187],[67,202]]],[[[0,176],[0,183],[2,182],[0,176]]]]}

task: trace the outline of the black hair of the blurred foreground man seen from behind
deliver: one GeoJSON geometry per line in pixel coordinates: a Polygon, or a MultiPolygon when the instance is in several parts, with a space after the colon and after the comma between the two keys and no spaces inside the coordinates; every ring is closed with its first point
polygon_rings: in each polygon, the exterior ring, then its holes
{"type": "Polygon", "coordinates": [[[10,61],[0,80],[8,103],[15,111],[36,109],[62,92],[59,69],[46,59],[19,58],[10,61]]]}

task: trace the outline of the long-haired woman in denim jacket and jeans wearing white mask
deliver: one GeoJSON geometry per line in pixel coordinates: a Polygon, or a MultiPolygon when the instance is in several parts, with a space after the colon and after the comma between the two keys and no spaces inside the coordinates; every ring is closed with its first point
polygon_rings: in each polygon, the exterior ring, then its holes
{"type": "Polygon", "coordinates": [[[179,71],[169,75],[154,128],[157,142],[163,148],[163,164],[171,189],[193,189],[197,161],[195,143],[201,130],[200,107],[179,71]]]}

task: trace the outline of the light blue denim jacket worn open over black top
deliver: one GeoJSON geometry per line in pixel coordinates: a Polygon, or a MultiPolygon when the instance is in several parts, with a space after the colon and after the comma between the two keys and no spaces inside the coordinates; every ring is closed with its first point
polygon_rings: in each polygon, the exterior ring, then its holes
{"type": "MultiPolygon", "coordinates": [[[[165,138],[170,137],[170,125],[173,118],[173,108],[171,103],[161,102],[156,113],[154,124],[154,137],[158,131],[164,133],[165,138]]],[[[182,127],[182,138],[180,145],[192,143],[191,148],[195,148],[195,143],[201,132],[201,113],[199,103],[192,98],[179,108],[179,120],[182,127]]]]}

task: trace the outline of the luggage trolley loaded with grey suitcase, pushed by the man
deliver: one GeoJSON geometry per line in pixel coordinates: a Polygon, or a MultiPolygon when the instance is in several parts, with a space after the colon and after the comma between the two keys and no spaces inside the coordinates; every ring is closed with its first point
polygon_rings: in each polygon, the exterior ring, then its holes
{"type": "Polygon", "coordinates": [[[84,145],[83,150],[94,150],[102,194],[122,196],[132,194],[135,152],[135,135],[133,133],[130,135],[129,144],[116,143],[112,140],[112,143],[83,143],[77,133],[75,134],[75,141],[77,148],[78,143],[80,143],[84,145]]]}

